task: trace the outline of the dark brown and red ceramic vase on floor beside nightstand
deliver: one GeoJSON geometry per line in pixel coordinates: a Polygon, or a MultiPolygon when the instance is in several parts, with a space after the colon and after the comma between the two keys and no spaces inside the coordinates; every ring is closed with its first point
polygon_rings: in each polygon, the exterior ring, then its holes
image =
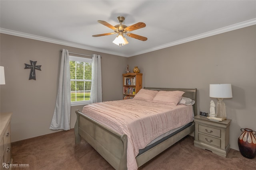
{"type": "Polygon", "coordinates": [[[242,128],[238,138],[238,147],[242,156],[253,159],[256,156],[256,132],[252,129],[242,128]]]}

